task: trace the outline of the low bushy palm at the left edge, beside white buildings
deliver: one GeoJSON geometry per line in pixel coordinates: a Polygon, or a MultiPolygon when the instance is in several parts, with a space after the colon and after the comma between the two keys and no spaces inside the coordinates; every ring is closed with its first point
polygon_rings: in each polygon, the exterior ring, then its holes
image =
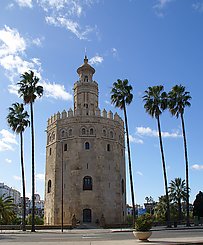
{"type": "Polygon", "coordinates": [[[0,196],[0,223],[8,224],[14,217],[13,198],[3,194],[0,196]]]}

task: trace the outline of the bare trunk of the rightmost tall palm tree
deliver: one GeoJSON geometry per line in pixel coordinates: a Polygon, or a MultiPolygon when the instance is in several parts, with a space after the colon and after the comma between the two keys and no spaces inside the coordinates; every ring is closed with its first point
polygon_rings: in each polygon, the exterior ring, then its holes
{"type": "Polygon", "coordinates": [[[183,141],[184,141],[184,150],[185,150],[185,175],[186,175],[186,209],[187,209],[187,218],[186,218],[186,226],[190,226],[190,201],[189,201],[189,168],[188,168],[188,156],[187,156],[187,142],[186,142],[186,134],[185,134],[185,123],[183,114],[180,114],[182,130],[183,130],[183,141]]]}

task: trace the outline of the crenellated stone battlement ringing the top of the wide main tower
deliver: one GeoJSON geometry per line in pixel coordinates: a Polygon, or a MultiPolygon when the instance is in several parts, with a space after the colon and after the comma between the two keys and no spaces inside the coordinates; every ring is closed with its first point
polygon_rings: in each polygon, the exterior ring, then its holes
{"type": "MultiPolygon", "coordinates": [[[[84,114],[82,110],[77,110],[74,114],[73,110],[70,108],[68,111],[63,110],[62,112],[57,112],[54,115],[52,115],[47,120],[47,125],[50,126],[52,123],[55,123],[57,120],[62,120],[62,119],[71,118],[71,117],[78,117],[78,116],[83,116],[83,115],[86,115],[86,114],[84,114]]],[[[118,115],[117,112],[113,114],[111,110],[107,112],[105,109],[101,111],[99,108],[97,108],[94,113],[92,114],[90,113],[88,116],[95,116],[95,117],[111,119],[123,125],[122,118],[118,115]]]]}

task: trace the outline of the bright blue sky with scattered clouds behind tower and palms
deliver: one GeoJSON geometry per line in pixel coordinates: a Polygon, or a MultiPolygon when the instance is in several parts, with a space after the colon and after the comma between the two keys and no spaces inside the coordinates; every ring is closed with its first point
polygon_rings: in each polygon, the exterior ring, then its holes
{"type": "MultiPolygon", "coordinates": [[[[164,194],[156,120],[146,114],[148,86],[186,86],[185,111],[191,202],[202,190],[203,1],[201,0],[1,0],[0,182],[21,190],[19,138],[9,129],[8,107],[21,99],[16,82],[36,72],[44,96],[35,103],[36,192],[44,195],[47,119],[73,106],[76,69],[85,50],[96,69],[100,109],[122,115],[110,103],[112,83],[127,78],[134,99],[128,109],[136,203],[164,194]]],[[[26,107],[29,111],[29,107],[26,107]]],[[[185,179],[180,120],[161,117],[168,181],[185,179]]],[[[30,130],[25,132],[27,195],[31,193],[30,130]]],[[[127,182],[129,190],[129,183],[127,182]]],[[[128,203],[130,194],[128,191],[128,203]]]]}

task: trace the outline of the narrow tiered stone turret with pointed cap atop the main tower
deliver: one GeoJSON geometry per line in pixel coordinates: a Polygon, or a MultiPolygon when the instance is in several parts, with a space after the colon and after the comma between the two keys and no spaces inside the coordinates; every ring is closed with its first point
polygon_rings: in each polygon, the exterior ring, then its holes
{"type": "Polygon", "coordinates": [[[77,73],[79,81],[74,84],[74,114],[95,115],[95,109],[98,108],[98,84],[93,81],[95,69],[88,64],[86,55],[77,73]]]}

